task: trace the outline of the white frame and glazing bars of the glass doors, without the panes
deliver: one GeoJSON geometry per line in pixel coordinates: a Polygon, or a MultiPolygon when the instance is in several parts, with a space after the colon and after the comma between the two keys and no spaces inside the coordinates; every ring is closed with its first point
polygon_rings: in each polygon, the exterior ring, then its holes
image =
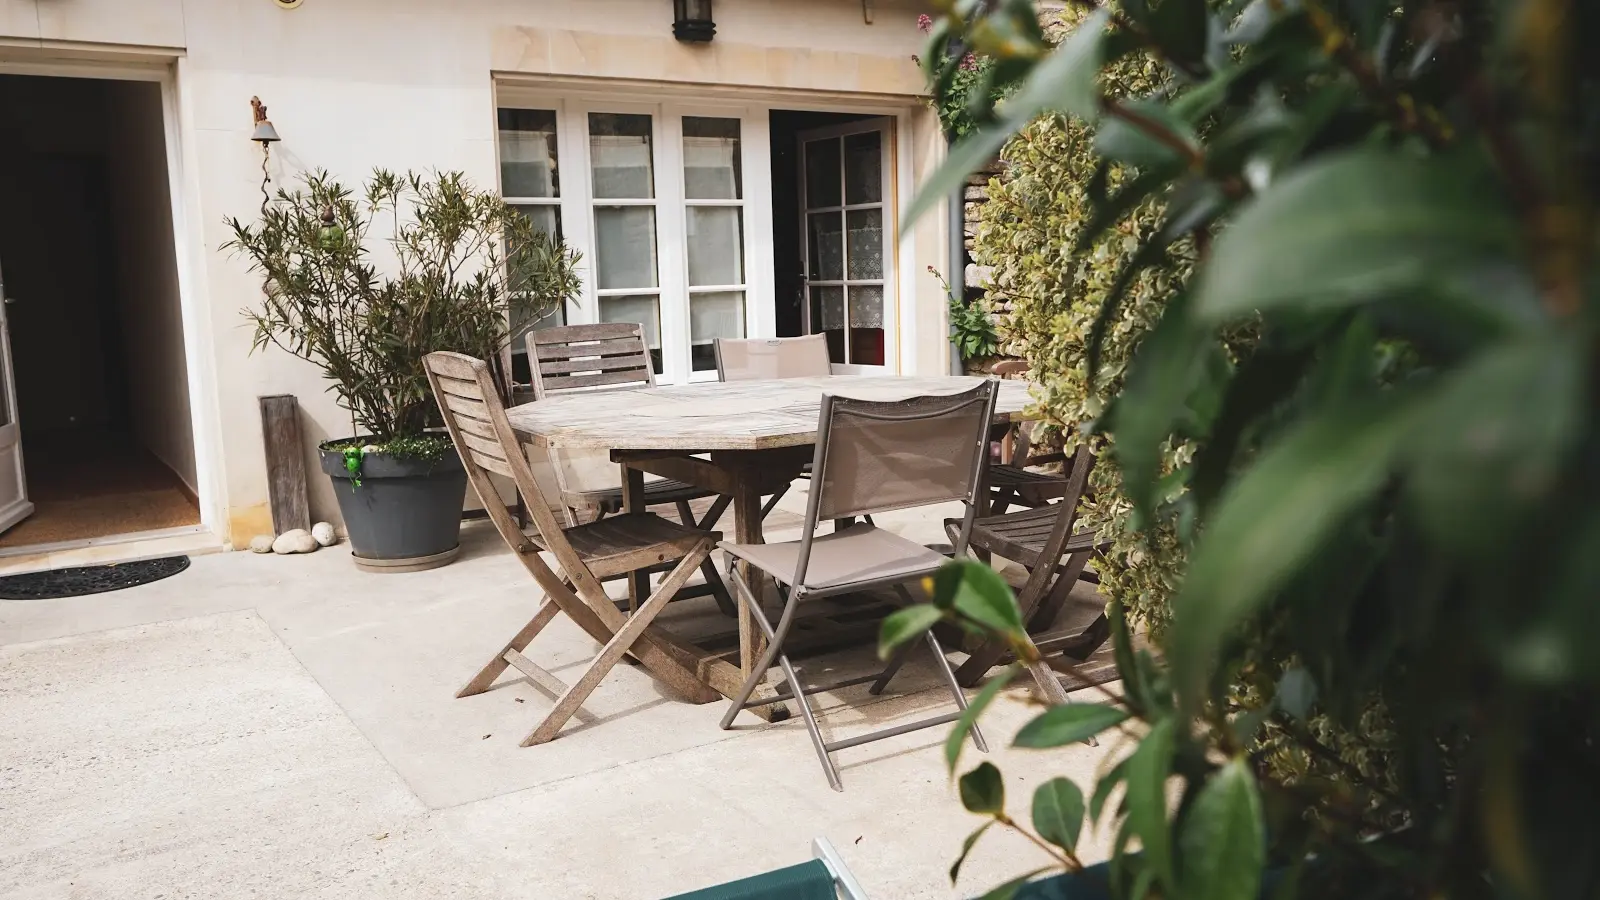
{"type": "MultiPolygon", "coordinates": [[[[862,104],[859,101],[830,102],[816,96],[683,96],[685,88],[642,86],[629,88],[627,101],[614,101],[616,86],[594,85],[531,85],[499,80],[494,86],[496,179],[499,176],[499,109],[549,109],[557,119],[557,154],[560,175],[562,232],[566,243],[582,253],[581,274],[584,288],[576,303],[566,306],[566,322],[584,325],[598,322],[600,293],[638,293],[629,290],[598,291],[594,277],[594,176],[589,160],[589,114],[622,112],[651,117],[654,178],[656,178],[656,259],[658,290],[661,298],[661,354],[662,372],[656,376],[662,384],[688,381],[715,381],[714,370],[693,372],[690,346],[690,293],[688,285],[688,207],[744,208],[744,333],[750,338],[770,338],[778,331],[774,296],[774,248],[773,248],[773,162],[771,128],[768,115],[774,109],[813,109],[818,112],[846,112],[883,115],[893,120],[890,141],[885,146],[890,173],[890,195],[885,197],[885,367],[866,367],[869,372],[894,373],[915,359],[915,323],[902,322],[902,314],[914,309],[915,266],[914,240],[899,234],[899,207],[909,199],[912,160],[904,152],[909,112],[899,106],[862,104]],[[659,96],[653,96],[659,94],[659,96]],[[683,175],[683,117],[738,119],[739,155],[742,163],[741,200],[686,200],[683,175]],[[896,237],[898,235],[898,237],[896,237]]],[[[509,203],[523,200],[507,197],[509,203]]],[[[602,205],[611,205],[602,200],[602,205]]],[[[622,202],[626,205],[627,202],[622,202]]],[[[803,239],[803,232],[802,232],[803,239]]],[[[726,285],[726,290],[736,285],[726,285]]],[[[693,293],[715,290],[710,285],[693,288],[693,293]]]]}

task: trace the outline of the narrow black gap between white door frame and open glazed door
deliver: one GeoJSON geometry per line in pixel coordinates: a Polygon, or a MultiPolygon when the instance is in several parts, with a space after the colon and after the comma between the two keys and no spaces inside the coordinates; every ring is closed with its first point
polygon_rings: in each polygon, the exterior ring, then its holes
{"type": "Polygon", "coordinates": [[[805,333],[800,304],[805,303],[805,261],[800,240],[800,147],[798,133],[829,125],[875,119],[850,112],[810,112],[774,109],[768,117],[773,154],[773,298],[779,338],[805,333]]]}

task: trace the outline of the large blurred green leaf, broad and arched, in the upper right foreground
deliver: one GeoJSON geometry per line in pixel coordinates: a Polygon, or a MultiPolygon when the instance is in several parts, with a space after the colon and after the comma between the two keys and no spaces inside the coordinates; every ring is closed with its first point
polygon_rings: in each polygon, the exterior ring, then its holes
{"type": "Polygon", "coordinates": [[[1238,210],[1197,274],[1195,314],[1338,307],[1422,291],[1440,271],[1517,258],[1517,218],[1459,160],[1381,149],[1312,162],[1238,210]]]}

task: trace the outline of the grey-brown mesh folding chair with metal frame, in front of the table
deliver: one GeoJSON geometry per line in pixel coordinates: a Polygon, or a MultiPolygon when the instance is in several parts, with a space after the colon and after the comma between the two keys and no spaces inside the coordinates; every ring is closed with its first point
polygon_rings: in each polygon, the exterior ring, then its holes
{"type": "MultiPolygon", "coordinates": [[[[835,791],[842,791],[838,769],[830,756],[835,749],[942,725],[960,717],[962,711],[966,709],[966,695],[955,682],[955,673],[950,671],[950,663],[944,658],[944,647],[939,645],[933,631],[928,631],[926,644],[933,650],[934,663],[944,676],[957,708],[952,713],[918,722],[824,741],[806,695],[866,682],[872,682],[872,693],[882,693],[906,661],[914,644],[896,653],[882,673],[803,687],[784,653],[784,641],[794,626],[797,607],[808,599],[893,588],[909,604],[912,597],[906,589],[906,581],[938,572],[946,560],[942,554],[870,522],[859,522],[819,536],[816,532],[822,520],[958,500],[966,504],[966,516],[955,536],[955,556],[966,554],[997,396],[998,383],[992,380],[962,394],[912,397],[899,402],[822,396],[816,455],[811,463],[811,496],[806,503],[802,538],[773,544],[726,541],[718,544],[733,557],[765,572],[787,588],[782,615],[773,626],[766,613],[762,612],[760,601],[750,593],[749,583],[738,569],[730,567],[734,593],[739,596],[739,602],[750,609],[757,626],[766,634],[768,645],[723,714],[723,729],[731,727],[734,716],[752,705],[749,703],[750,693],[766,677],[768,668],[776,660],[789,682],[787,692],[779,690],[778,697],[798,701],[806,732],[816,746],[818,759],[822,761],[822,770],[827,772],[827,781],[835,791]]],[[[763,698],[762,703],[771,703],[771,698],[763,698]]],[[[989,749],[978,729],[973,729],[973,743],[979,749],[989,749]]]]}

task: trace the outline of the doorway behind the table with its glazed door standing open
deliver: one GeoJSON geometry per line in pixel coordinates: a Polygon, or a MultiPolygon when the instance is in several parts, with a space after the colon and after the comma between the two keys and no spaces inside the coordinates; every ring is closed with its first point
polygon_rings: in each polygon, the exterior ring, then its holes
{"type": "Polygon", "coordinates": [[[890,365],[893,120],[774,109],[776,333],[826,335],[835,372],[890,365]]]}

